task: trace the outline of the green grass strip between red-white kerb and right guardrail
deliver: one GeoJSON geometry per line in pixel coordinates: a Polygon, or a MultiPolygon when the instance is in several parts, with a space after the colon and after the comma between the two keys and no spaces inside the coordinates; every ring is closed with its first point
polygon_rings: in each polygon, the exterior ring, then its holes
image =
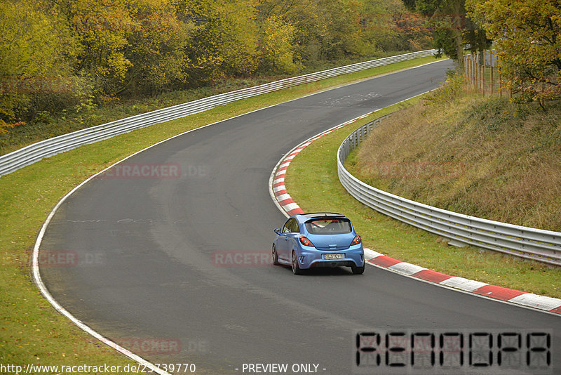
{"type": "Polygon", "coordinates": [[[304,211],[342,211],[353,221],[365,246],[382,254],[449,275],[561,298],[561,272],[558,269],[491,251],[448,246],[440,237],[377,213],[344,190],[337,177],[336,160],[337,149],[344,138],[366,122],[418,100],[415,98],[385,108],[314,141],[302,150],[292,159],[285,177],[292,198],[304,211]],[[324,157],[318,158],[318,154],[324,157]]]}

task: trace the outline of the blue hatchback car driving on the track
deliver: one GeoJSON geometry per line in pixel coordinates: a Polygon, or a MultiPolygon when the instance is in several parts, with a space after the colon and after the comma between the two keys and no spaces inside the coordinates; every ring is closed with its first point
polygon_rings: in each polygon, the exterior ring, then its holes
{"type": "Polygon", "coordinates": [[[364,272],[364,249],[351,221],[340,213],[302,213],[276,228],[273,264],[290,265],[295,275],[312,267],[351,267],[364,272]]]}

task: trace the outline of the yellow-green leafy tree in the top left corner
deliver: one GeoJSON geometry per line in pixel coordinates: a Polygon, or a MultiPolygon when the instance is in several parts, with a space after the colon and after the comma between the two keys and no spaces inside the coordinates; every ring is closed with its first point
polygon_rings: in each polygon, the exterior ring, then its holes
{"type": "Polygon", "coordinates": [[[0,2],[0,133],[37,112],[74,103],[80,48],[64,18],[34,1],[0,2]]]}

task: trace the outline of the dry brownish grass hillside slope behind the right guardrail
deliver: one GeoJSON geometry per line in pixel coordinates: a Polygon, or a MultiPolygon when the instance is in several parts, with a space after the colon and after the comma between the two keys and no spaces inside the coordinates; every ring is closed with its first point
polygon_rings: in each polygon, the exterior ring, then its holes
{"type": "Polygon", "coordinates": [[[561,231],[561,103],[465,93],[458,79],[384,122],[347,167],[366,183],[459,213],[561,231]]]}

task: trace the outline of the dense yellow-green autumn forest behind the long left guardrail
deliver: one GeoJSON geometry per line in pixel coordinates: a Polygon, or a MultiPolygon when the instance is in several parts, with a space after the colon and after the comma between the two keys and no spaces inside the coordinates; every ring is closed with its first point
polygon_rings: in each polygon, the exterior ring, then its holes
{"type": "Polygon", "coordinates": [[[1,153],[111,119],[99,107],[432,44],[400,0],[7,0],[0,18],[1,153]]]}

